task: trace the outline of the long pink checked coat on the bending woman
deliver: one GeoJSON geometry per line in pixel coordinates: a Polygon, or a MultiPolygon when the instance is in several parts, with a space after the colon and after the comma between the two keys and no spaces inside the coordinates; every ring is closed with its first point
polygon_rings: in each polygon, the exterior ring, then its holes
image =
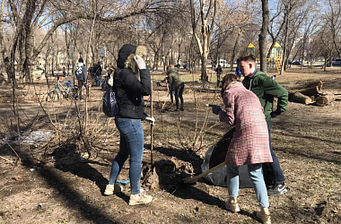
{"type": "Polygon", "coordinates": [[[223,92],[225,110],[220,121],[235,125],[225,163],[232,166],[272,162],[267,121],[258,97],[242,84],[236,83],[223,92]]]}

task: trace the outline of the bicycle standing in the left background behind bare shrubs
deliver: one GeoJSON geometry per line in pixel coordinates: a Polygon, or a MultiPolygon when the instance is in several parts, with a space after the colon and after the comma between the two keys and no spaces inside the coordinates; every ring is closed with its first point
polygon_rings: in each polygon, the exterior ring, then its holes
{"type": "Polygon", "coordinates": [[[72,80],[63,82],[58,80],[56,85],[48,92],[48,98],[52,99],[53,102],[59,101],[61,98],[64,99],[77,99],[78,98],[78,86],[71,84],[72,80]]]}

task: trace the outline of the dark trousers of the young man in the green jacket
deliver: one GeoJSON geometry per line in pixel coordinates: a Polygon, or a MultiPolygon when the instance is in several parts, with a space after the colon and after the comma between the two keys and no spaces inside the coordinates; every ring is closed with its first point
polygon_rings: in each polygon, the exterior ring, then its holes
{"type": "Polygon", "coordinates": [[[273,162],[267,162],[263,163],[263,173],[264,173],[264,180],[266,181],[266,185],[282,185],[284,184],[284,175],[283,171],[281,169],[281,166],[279,165],[279,160],[275,156],[275,152],[271,145],[271,119],[267,121],[267,130],[269,133],[269,144],[270,144],[270,152],[273,162]]]}

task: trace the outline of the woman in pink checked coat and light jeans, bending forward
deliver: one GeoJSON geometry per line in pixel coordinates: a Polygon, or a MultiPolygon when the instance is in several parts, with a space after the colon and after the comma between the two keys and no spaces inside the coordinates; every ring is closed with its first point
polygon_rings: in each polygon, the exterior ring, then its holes
{"type": "Polygon", "coordinates": [[[225,159],[230,195],[226,208],[232,212],[240,211],[237,202],[239,167],[248,165],[249,177],[260,207],[257,216],[263,223],[271,223],[262,163],[272,162],[272,157],[263,108],[258,97],[247,90],[234,73],[223,77],[222,96],[225,111],[213,106],[213,113],[219,115],[220,121],[236,128],[225,159]]]}

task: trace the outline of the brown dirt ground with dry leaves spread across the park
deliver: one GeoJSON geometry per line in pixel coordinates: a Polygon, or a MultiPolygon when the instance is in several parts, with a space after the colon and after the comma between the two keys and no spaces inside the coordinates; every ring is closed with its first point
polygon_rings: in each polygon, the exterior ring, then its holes
{"type": "MultiPolygon", "coordinates": [[[[288,90],[322,81],[323,91],[341,93],[340,72],[337,68],[327,73],[292,69],[276,80],[288,90]]],[[[181,73],[190,80],[191,74],[181,73]]],[[[153,73],[154,80],[162,78],[153,73]]],[[[255,215],[258,202],[251,188],[240,189],[241,211],[232,213],[224,208],[226,188],[205,179],[195,185],[179,185],[181,177],[201,173],[205,151],[230,129],[205,107],[206,103],[222,103],[214,86],[212,81],[204,90],[200,82],[187,82],[186,109],[177,112],[167,102],[166,87],[155,82],[155,171],[143,177],[144,188],[154,200],[137,206],[127,204],[129,184],[123,185],[120,194],[103,195],[119,141],[114,121],[101,112],[103,92],[94,87],[89,102],[76,104],[82,117],[88,110],[90,125],[85,133],[93,149],[88,159],[77,135],[74,101],[47,102],[44,82],[20,86],[21,130],[55,135],[40,144],[19,147],[10,142],[0,147],[0,223],[259,223],[255,215]],[[203,126],[205,134],[197,138],[203,126]]],[[[16,119],[11,88],[3,85],[0,91],[0,139],[4,139],[8,130],[16,130],[16,119]]],[[[146,105],[150,113],[148,100],[146,105]]],[[[272,120],[273,147],[290,188],[282,196],[269,198],[273,223],[341,223],[340,110],[338,100],[325,107],[289,102],[288,110],[272,120]]],[[[144,165],[151,160],[150,130],[144,122],[144,165]]],[[[118,179],[127,177],[128,162],[118,179]]]]}

